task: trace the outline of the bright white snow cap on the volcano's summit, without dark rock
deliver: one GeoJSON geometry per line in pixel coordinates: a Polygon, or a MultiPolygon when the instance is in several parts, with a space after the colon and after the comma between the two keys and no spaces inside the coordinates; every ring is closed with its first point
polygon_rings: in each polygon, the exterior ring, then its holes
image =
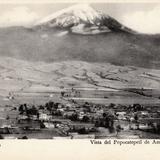
{"type": "Polygon", "coordinates": [[[67,26],[69,23],[80,23],[80,21],[94,23],[96,19],[101,19],[100,14],[88,4],[79,4],[62,9],[54,14],[45,17],[37,24],[51,23],[53,20],[58,25],[67,26]]]}

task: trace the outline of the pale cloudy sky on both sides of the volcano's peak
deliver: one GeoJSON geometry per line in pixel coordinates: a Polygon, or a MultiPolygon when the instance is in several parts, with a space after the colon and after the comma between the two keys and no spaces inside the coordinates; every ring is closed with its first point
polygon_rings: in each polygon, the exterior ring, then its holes
{"type": "MultiPolygon", "coordinates": [[[[30,25],[74,4],[0,4],[0,26],[30,25]]],[[[139,32],[160,33],[160,3],[94,3],[90,5],[139,32]]]]}

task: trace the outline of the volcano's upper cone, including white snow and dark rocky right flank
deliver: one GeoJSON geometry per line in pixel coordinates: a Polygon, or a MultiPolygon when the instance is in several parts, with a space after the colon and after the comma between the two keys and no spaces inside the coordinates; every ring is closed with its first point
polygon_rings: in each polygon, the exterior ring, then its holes
{"type": "Polygon", "coordinates": [[[110,31],[133,32],[114,18],[96,11],[88,4],[78,4],[51,14],[35,26],[58,26],[74,33],[97,34],[110,31]]]}

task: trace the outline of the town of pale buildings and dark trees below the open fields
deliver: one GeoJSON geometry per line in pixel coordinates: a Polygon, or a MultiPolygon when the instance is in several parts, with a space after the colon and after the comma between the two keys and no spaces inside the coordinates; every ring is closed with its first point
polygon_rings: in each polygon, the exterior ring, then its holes
{"type": "MultiPolygon", "coordinates": [[[[160,133],[159,106],[129,106],[115,104],[81,104],[69,102],[66,104],[47,102],[45,105],[30,106],[21,104],[14,107],[16,116],[6,116],[7,125],[0,127],[0,135],[20,135],[30,133],[47,134],[56,131],[52,138],[104,138],[109,135],[118,136],[133,130],[160,133]],[[101,129],[100,129],[101,128],[101,129]],[[102,132],[103,128],[103,133],[102,132]]],[[[145,138],[145,137],[143,137],[145,138]]]]}

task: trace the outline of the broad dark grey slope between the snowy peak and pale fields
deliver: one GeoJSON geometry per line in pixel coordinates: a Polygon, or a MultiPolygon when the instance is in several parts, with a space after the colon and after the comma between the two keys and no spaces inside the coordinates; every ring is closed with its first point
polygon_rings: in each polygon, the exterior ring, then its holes
{"type": "Polygon", "coordinates": [[[0,56],[29,61],[81,60],[159,69],[158,35],[68,33],[59,28],[0,29],[0,56]]]}

